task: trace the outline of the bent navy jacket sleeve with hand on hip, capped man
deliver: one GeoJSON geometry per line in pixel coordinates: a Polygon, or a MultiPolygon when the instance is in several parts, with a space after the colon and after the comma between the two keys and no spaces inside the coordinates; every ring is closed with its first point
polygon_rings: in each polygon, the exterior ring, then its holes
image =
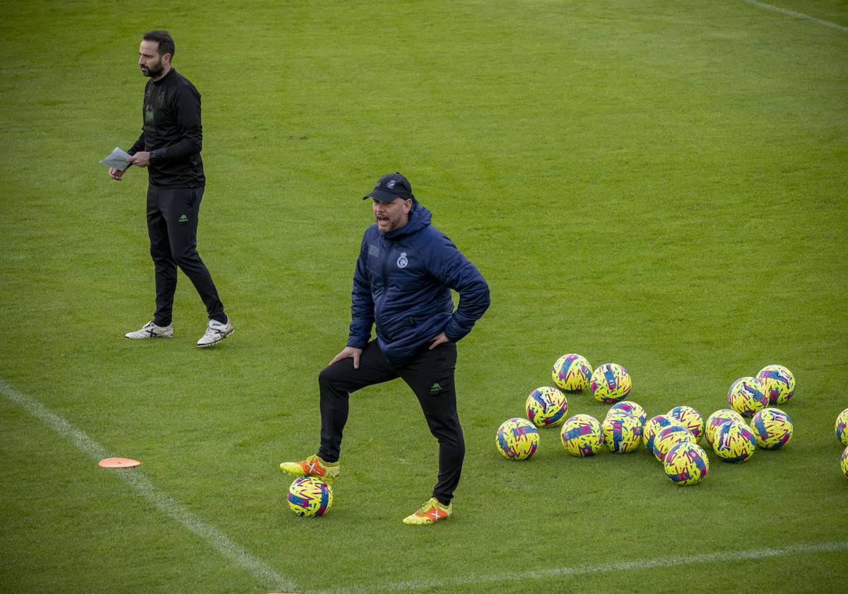
{"type": "MultiPolygon", "coordinates": [[[[444,328],[445,337],[456,342],[471,332],[491,302],[488,283],[465,255],[448,238],[433,245],[431,272],[439,281],[460,294],[460,303],[444,328]]],[[[437,343],[438,344],[438,343],[437,343]]]]}

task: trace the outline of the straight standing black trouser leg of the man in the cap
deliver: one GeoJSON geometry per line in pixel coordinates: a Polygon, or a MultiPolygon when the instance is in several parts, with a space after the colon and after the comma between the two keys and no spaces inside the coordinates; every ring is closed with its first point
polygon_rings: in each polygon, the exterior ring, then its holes
{"type": "Polygon", "coordinates": [[[421,403],[430,433],[438,440],[438,480],[432,496],[448,505],[460,483],[466,444],[456,412],[454,371],[455,343],[444,343],[425,350],[407,367],[400,377],[409,384],[421,403]]]}

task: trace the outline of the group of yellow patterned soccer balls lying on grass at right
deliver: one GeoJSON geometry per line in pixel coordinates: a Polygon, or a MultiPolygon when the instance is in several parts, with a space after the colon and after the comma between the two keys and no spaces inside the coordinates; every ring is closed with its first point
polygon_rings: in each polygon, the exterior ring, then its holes
{"type": "MultiPolygon", "coordinates": [[[[527,460],[538,448],[538,429],[561,425],[560,439],[575,457],[597,454],[602,446],[613,453],[637,451],[644,443],[676,485],[696,485],[706,477],[710,461],[698,443],[701,438],[724,462],[745,462],[757,446],[778,450],[792,437],[789,416],[769,404],[785,404],[795,394],[795,377],[780,365],[764,367],[756,377],[739,378],[728,391],[728,405],[706,419],[691,406],[675,406],[647,420],[636,402],[625,400],[632,380],[628,370],[605,363],[592,370],[585,357],[561,356],[551,370],[555,386],[542,386],[527,396],[527,418],[503,423],[495,437],[498,451],[510,460],[527,460]],[[602,423],[588,414],[566,418],[566,394],[591,389],[595,400],[611,404],[602,423]],[[749,423],[745,417],[752,417],[749,423]]],[[[848,446],[848,409],[837,420],[837,434],[848,446]]],[[[848,447],[842,455],[848,476],[848,447]]]]}

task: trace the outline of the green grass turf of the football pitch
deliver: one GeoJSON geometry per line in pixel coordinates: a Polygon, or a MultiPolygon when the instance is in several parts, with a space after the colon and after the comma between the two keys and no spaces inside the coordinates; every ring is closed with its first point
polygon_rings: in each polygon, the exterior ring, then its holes
{"type": "MultiPolygon", "coordinates": [[[[779,5],[848,26],[840,2],[779,5]]],[[[31,395],[301,591],[837,591],[845,550],[522,577],[597,563],[845,541],[848,34],[751,3],[12,3],[0,23],[0,361],[31,395]],[[237,333],[137,343],[153,274],[137,137],[141,33],[166,27],[204,96],[198,246],[237,333]],[[276,463],[315,450],[316,375],[343,346],[354,258],[387,171],[488,278],[460,344],[455,518],[403,384],[354,395],[326,518],[276,463]],[[798,379],[795,437],[678,488],[644,451],[527,463],[492,442],[564,352],[633,376],[649,416],[726,406],[767,363],[798,379]],[[469,578],[471,578],[469,580],[469,578]],[[460,584],[451,580],[468,580],[460,584]],[[402,586],[408,582],[406,586],[402,586]]],[[[589,395],[570,414],[602,418],[589,395]]],[[[243,568],[0,399],[4,591],[263,592],[243,568]]],[[[708,450],[708,453],[711,451],[708,450]]],[[[135,472],[135,471],[119,471],[135,472]]]]}

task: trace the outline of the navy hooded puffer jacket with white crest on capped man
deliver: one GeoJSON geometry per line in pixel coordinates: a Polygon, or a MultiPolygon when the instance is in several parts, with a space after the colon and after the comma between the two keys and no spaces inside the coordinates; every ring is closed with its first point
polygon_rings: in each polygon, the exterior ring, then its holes
{"type": "Polygon", "coordinates": [[[488,284],[417,202],[410,220],[381,233],[365,230],[354,272],[348,346],[365,348],[377,323],[377,345],[393,367],[444,332],[452,342],[471,332],[488,308],[488,284]],[[460,294],[454,311],[450,289],[460,294]]]}

